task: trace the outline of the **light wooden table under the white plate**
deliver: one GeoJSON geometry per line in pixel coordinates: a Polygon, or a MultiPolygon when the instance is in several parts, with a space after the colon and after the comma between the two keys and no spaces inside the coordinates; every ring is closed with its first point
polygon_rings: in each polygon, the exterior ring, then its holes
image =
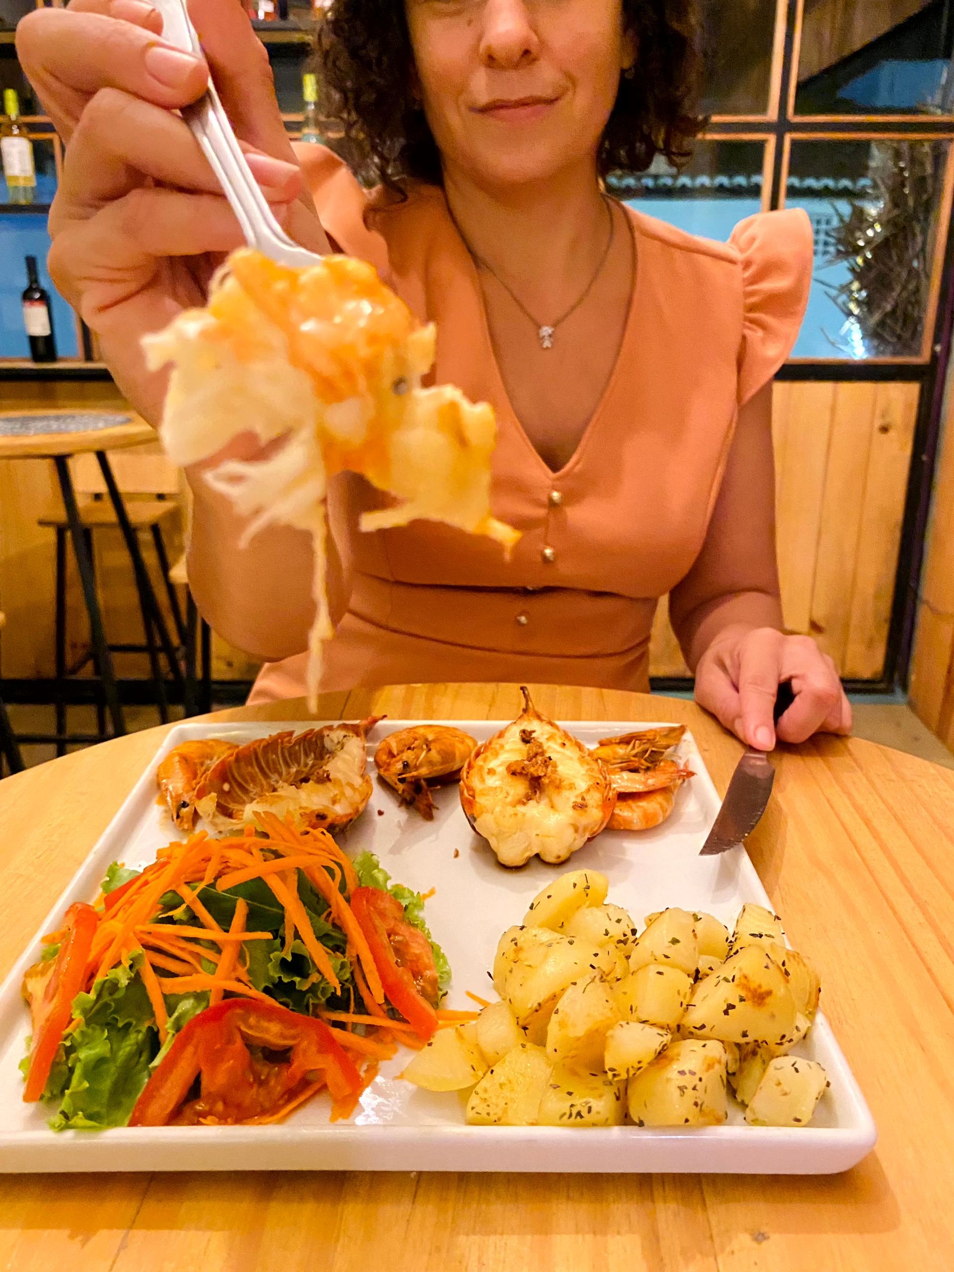
{"type": "MultiPolygon", "coordinates": [[[[724,790],[740,748],[689,702],[539,688],[565,720],[691,725],[724,790]]],[[[326,719],[511,719],[513,686],[328,696],[326,719]]],[[[303,703],[214,719],[305,719],[303,703]]],[[[155,750],[162,729],[0,785],[0,972],[155,750]]],[[[17,1272],[950,1272],[954,772],[865,742],[781,756],[749,851],[880,1130],[838,1177],[149,1174],[0,1178],[17,1272]]],[[[585,1133],[585,1132],[580,1132],[585,1133]]]]}

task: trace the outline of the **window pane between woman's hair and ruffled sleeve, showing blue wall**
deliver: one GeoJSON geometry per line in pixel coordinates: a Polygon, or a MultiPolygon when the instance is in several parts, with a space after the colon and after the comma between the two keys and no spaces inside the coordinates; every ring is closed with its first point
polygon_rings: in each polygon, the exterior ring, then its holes
{"type": "Polygon", "coordinates": [[[649,216],[724,242],[762,210],[763,160],[762,141],[700,141],[682,170],[656,158],[649,172],[613,178],[609,187],[649,216]]]}

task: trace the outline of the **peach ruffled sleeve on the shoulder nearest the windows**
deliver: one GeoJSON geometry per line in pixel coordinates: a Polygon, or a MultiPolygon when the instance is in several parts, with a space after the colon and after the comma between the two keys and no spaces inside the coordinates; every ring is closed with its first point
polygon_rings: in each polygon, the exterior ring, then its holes
{"type": "Polygon", "coordinates": [[[744,406],[795,347],[812,287],[814,235],[808,214],[791,209],[749,216],[729,243],[742,259],[739,404],[744,406]]]}

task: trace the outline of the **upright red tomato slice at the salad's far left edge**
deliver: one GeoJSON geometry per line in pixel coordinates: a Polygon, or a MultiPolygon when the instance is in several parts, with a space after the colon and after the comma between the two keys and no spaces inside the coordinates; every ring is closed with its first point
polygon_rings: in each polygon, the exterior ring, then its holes
{"type": "Polygon", "coordinates": [[[64,922],[65,936],[60,953],[52,960],[52,972],[42,978],[31,978],[27,973],[28,992],[31,983],[37,990],[31,1001],[33,1042],[27,1085],[23,1089],[23,1098],[28,1104],[38,1100],[46,1089],[56,1051],[73,1019],[73,1000],[83,988],[86,960],[98,925],[99,915],[92,906],[84,902],[70,906],[64,922]]]}

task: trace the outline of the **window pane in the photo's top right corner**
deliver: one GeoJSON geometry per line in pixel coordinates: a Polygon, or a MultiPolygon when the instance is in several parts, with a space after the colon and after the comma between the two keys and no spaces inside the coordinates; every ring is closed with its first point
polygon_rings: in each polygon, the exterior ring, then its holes
{"type": "Polygon", "coordinates": [[[950,114],[953,50],[954,0],[806,0],[796,113],[950,114]]]}

